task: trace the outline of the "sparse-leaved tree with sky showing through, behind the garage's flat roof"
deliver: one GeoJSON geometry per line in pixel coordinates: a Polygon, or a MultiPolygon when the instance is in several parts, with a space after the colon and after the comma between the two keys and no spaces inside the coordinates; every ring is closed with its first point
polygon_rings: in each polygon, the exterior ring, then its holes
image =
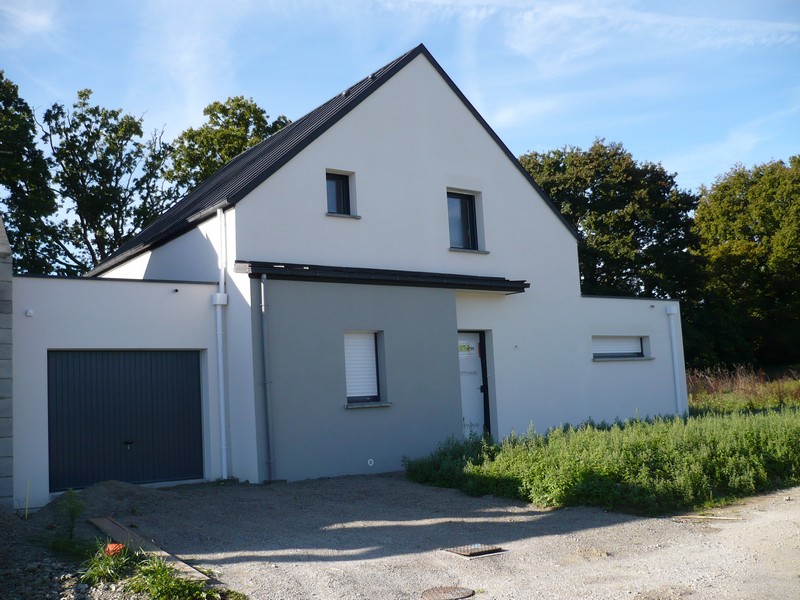
{"type": "Polygon", "coordinates": [[[59,208],[48,216],[58,249],[49,272],[59,275],[97,266],[177,196],[162,178],[170,146],[161,134],[143,139],[141,118],[91,105],[91,94],[79,91],[72,111],[54,104],[42,123],[59,208]]]}

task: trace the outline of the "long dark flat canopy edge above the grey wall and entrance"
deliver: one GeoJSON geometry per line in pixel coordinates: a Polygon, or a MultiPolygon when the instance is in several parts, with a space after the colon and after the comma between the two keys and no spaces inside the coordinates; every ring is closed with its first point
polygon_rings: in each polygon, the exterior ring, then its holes
{"type": "Polygon", "coordinates": [[[246,273],[253,278],[266,275],[270,279],[286,279],[293,281],[434,287],[504,292],[506,294],[519,294],[524,292],[531,285],[524,280],[510,280],[503,277],[245,260],[237,260],[234,265],[234,270],[237,273],[246,273]]]}

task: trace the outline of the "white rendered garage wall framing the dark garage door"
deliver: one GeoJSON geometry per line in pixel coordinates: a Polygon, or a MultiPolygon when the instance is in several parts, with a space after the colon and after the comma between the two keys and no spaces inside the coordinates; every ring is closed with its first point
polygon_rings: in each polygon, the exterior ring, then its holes
{"type": "Polygon", "coordinates": [[[50,501],[47,351],[200,350],[203,463],[220,476],[214,310],[207,284],[15,277],[14,506],[50,501]],[[177,292],[175,290],[178,290],[177,292]],[[30,314],[30,316],[28,316],[30,314]],[[28,488],[29,486],[29,488],[28,488]]]}

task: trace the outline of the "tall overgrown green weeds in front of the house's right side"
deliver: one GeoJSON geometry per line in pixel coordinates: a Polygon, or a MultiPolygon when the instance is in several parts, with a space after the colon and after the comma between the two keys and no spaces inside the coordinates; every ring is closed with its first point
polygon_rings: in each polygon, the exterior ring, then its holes
{"type": "Polygon", "coordinates": [[[450,439],[405,466],[420,483],[540,506],[655,515],[726,502],[800,484],[800,382],[781,381],[749,396],[714,383],[716,392],[695,392],[702,404],[685,419],[589,422],[500,444],[450,439]],[[732,393],[742,396],[726,400],[732,393]]]}

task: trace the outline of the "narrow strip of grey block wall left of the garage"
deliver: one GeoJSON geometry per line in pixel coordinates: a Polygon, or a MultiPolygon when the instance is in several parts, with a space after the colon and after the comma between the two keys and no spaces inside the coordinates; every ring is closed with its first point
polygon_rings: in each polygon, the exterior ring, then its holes
{"type": "Polygon", "coordinates": [[[0,222],[0,506],[13,504],[11,401],[11,246],[0,222]]]}

